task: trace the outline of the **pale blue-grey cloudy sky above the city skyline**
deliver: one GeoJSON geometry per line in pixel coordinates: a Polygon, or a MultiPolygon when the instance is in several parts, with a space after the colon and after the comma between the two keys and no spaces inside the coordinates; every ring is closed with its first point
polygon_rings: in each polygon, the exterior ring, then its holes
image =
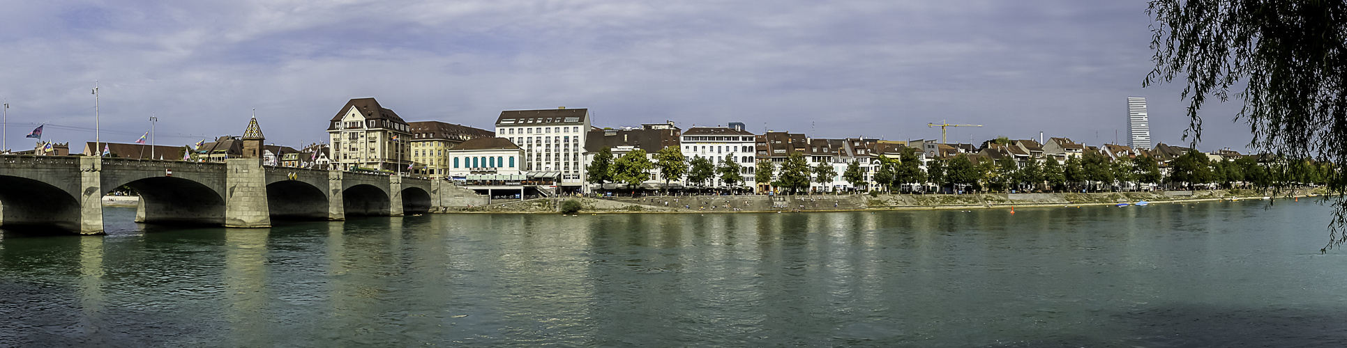
{"type": "MultiPolygon", "coordinates": [[[[1150,71],[1145,0],[11,1],[0,12],[8,146],[241,134],[325,138],[350,98],[408,121],[492,128],[501,110],[589,107],[597,126],[745,122],[812,137],[1125,144],[1126,97],[1183,144],[1181,86],[1150,71]]],[[[1202,149],[1243,149],[1237,102],[1202,149]]]]}

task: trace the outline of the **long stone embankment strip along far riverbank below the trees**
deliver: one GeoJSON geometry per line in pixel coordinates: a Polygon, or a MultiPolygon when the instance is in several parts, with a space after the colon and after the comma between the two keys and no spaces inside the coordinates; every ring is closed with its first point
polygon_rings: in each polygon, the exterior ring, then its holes
{"type": "Polygon", "coordinates": [[[1230,199],[1293,199],[1321,196],[1323,188],[1296,191],[1203,189],[1096,193],[966,193],[966,195],[784,195],[784,196],[643,196],[643,198],[550,198],[475,207],[445,212],[558,214],[574,200],[577,214],[612,212],[787,212],[787,211],[876,211],[876,210],[967,210],[1010,207],[1113,206],[1177,203],[1230,199]]]}

